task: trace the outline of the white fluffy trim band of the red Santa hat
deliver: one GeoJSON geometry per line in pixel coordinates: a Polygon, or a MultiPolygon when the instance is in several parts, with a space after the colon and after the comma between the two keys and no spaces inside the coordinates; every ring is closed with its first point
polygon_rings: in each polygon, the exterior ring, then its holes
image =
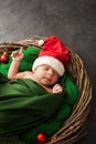
{"type": "Polygon", "coordinates": [[[62,62],[54,59],[53,56],[40,56],[40,58],[38,58],[33,63],[32,71],[34,71],[34,69],[36,66],[42,65],[42,64],[47,64],[47,65],[52,66],[61,76],[65,72],[65,69],[64,69],[64,65],[62,64],[62,62]]]}

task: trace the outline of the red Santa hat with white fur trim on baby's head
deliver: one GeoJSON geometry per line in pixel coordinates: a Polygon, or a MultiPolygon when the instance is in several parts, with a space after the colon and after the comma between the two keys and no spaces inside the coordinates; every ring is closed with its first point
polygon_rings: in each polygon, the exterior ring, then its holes
{"type": "Polygon", "coordinates": [[[34,71],[39,65],[47,64],[62,76],[65,72],[64,65],[70,61],[68,50],[56,35],[46,38],[44,43],[42,41],[42,44],[39,58],[34,61],[32,70],[34,71]]]}

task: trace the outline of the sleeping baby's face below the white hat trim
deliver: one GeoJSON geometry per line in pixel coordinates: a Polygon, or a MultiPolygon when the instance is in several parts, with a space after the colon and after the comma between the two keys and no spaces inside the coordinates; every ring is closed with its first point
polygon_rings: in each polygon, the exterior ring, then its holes
{"type": "Polygon", "coordinates": [[[54,85],[58,81],[58,73],[50,65],[42,64],[34,70],[34,76],[43,85],[54,85]]]}

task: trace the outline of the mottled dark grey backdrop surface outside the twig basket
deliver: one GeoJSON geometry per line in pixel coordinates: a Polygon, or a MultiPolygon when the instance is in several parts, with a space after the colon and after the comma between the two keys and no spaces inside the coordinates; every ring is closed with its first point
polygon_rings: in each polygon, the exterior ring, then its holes
{"type": "Polygon", "coordinates": [[[90,75],[88,134],[77,144],[96,144],[96,1],[0,0],[0,42],[53,34],[81,55],[90,75]]]}

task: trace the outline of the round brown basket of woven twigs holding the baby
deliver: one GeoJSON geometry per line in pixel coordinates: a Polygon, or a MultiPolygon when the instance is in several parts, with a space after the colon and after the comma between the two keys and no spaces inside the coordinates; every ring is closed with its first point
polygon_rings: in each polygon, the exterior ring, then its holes
{"type": "MultiPolygon", "coordinates": [[[[15,43],[1,43],[0,53],[3,51],[11,53],[11,51],[19,47],[26,48],[28,45],[38,45],[38,40],[42,38],[34,37],[15,43]]],[[[76,104],[74,105],[72,115],[64,121],[62,128],[50,137],[47,144],[73,144],[86,134],[86,121],[90,110],[92,100],[92,83],[82,59],[71,50],[70,54],[71,61],[67,69],[71,72],[75,84],[79,88],[79,95],[76,104]]],[[[13,143],[11,142],[11,144],[14,143],[14,141],[13,143]]],[[[8,143],[6,142],[6,144],[8,143]]],[[[18,141],[17,144],[19,144],[18,141]]]]}

